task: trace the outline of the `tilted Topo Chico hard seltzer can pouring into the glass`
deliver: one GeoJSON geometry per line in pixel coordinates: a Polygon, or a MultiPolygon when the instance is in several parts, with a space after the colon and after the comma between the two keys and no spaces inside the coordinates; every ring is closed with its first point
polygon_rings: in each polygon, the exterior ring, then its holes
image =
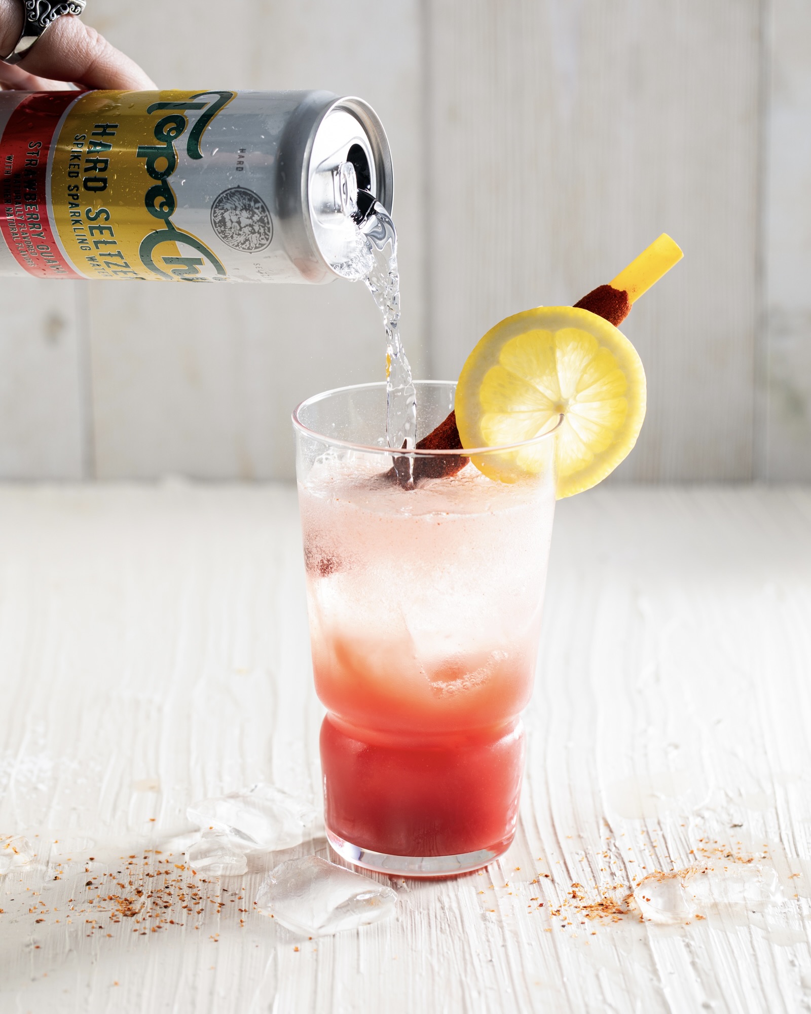
{"type": "Polygon", "coordinates": [[[322,283],[359,189],[391,211],[380,120],[327,91],[3,91],[0,133],[0,275],[322,283]]]}

